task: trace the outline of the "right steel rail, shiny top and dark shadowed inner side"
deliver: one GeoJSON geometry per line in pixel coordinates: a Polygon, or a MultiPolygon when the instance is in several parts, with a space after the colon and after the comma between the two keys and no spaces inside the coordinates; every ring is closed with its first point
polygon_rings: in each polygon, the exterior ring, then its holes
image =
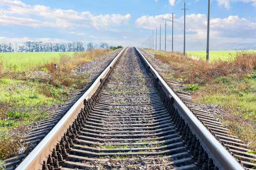
{"type": "Polygon", "coordinates": [[[147,65],[148,69],[154,75],[155,80],[162,86],[165,93],[174,99],[174,107],[189,124],[191,131],[200,139],[200,143],[207,151],[210,158],[213,159],[215,166],[220,170],[244,170],[238,161],[230,155],[230,153],[220,144],[218,140],[206,129],[206,127],[195,117],[195,115],[187,108],[187,106],[179,99],[179,97],[171,90],[163,78],[153,68],[143,54],[135,48],[141,59],[147,65]]]}

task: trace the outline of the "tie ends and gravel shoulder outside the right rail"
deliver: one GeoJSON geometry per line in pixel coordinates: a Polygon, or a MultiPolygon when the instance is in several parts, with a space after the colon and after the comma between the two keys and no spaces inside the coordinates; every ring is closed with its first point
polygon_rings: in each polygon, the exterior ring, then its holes
{"type": "MultiPolygon", "coordinates": [[[[147,53],[146,50],[140,50],[143,51],[143,55],[147,56],[145,54],[147,53]]],[[[162,72],[161,68],[159,68],[158,65],[155,65],[152,58],[147,57],[147,60],[151,65],[153,65],[154,69],[156,69],[158,72],[162,72]]],[[[192,101],[192,97],[189,93],[180,90],[180,84],[177,82],[166,80],[166,83],[196,116],[196,118],[200,120],[203,125],[205,125],[210,133],[215,136],[221,145],[223,145],[225,149],[228,150],[230,154],[233,155],[233,157],[236,158],[246,170],[256,169],[256,155],[250,153],[251,150],[247,149],[247,145],[244,144],[242,140],[234,135],[231,135],[230,130],[222,125],[220,118],[214,116],[208,110],[200,109],[198,106],[199,104],[192,101]]]]}

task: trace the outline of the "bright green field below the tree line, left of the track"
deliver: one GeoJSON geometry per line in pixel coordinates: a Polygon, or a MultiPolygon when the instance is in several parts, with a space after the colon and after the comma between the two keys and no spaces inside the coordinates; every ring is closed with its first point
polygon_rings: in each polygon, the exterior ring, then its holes
{"type": "Polygon", "coordinates": [[[5,66],[15,65],[17,70],[23,70],[25,66],[33,67],[59,60],[61,54],[72,56],[74,52],[13,52],[0,53],[0,57],[5,66]]]}

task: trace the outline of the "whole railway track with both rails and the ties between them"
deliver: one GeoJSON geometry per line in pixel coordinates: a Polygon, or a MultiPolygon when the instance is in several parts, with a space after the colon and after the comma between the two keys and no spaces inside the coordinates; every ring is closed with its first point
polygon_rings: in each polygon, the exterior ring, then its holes
{"type": "Polygon", "coordinates": [[[74,168],[243,169],[135,48],[112,61],[17,167],[74,168]]]}

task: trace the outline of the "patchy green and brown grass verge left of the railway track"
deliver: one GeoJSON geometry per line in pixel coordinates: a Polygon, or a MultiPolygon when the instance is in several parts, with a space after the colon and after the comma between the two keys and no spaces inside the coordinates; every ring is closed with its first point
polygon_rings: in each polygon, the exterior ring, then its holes
{"type": "MultiPolygon", "coordinates": [[[[7,60],[0,58],[0,159],[19,153],[19,135],[26,125],[50,118],[46,108],[64,103],[72,91],[84,88],[91,81],[87,74],[77,75],[72,69],[107,54],[107,50],[75,52],[72,56],[61,53],[58,60],[48,61],[40,60],[36,53],[27,54],[33,56],[31,62],[20,60],[20,67],[10,62],[16,54],[9,54],[7,60]],[[54,64],[58,65],[57,70],[54,64]]],[[[45,56],[48,54],[52,53],[45,56]]]]}

